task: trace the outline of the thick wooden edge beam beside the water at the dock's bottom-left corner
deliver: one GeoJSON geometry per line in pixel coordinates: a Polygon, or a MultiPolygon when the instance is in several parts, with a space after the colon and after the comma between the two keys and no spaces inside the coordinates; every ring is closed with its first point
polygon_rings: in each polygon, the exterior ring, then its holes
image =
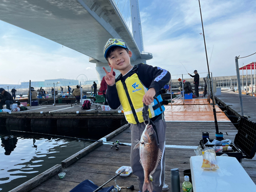
{"type": "Polygon", "coordinates": [[[45,172],[37,175],[36,177],[30,179],[29,181],[23,183],[15,187],[14,189],[10,190],[9,192],[27,192],[32,188],[36,187],[37,185],[41,184],[42,182],[48,180],[52,176],[56,175],[61,170],[61,165],[56,164],[55,166],[49,168],[45,172]]]}

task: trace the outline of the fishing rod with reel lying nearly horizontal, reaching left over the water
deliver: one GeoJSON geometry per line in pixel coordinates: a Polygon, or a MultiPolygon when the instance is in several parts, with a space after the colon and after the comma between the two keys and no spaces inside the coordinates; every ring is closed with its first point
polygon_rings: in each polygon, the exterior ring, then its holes
{"type": "MultiPolygon", "coordinates": [[[[102,143],[109,143],[114,144],[114,147],[116,150],[118,150],[118,145],[124,145],[124,146],[131,146],[124,143],[120,143],[119,140],[115,140],[114,142],[108,142],[108,141],[99,141],[99,140],[93,140],[93,139],[83,139],[78,137],[70,137],[70,136],[62,136],[62,135],[53,135],[48,133],[35,133],[35,132],[26,132],[26,131],[17,131],[17,130],[11,130],[11,132],[20,132],[20,133],[30,133],[30,134],[40,134],[40,135],[49,135],[49,136],[55,136],[55,137],[65,137],[65,138],[71,138],[71,139],[78,139],[78,140],[86,140],[86,141],[95,141],[95,142],[102,142],[102,143]]],[[[111,146],[112,148],[113,146],[111,146]]]]}

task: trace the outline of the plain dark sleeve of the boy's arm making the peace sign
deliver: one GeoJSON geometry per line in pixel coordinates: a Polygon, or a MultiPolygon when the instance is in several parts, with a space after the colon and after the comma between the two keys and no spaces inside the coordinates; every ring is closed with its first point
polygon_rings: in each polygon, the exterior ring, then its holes
{"type": "Polygon", "coordinates": [[[115,110],[120,106],[120,100],[117,94],[116,84],[114,86],[109,86],[106,90],[106,99],[108,99],[108,104],[111,109],[115,110]]]}

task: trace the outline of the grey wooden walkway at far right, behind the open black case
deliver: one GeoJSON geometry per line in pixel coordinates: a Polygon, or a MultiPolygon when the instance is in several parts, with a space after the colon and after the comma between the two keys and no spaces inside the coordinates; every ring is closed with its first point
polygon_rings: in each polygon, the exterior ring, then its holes
{"type": "MultiPolygon", "coordinates": [[[[240,109],[240,101],[239,101],[239,94],[228,91],[222,90],[221,95],[216,96],[220,99],[225,105],[228,105],[234,112],[237,112],[239,116],[241,116],[241,109],[240,109]]],[[[249,96],[249,95],[242,95],[243,99],[243,109],[244,115],[249,117],[249,120],[256,122],[256,113],[255,108],[256,106],[256,97],[249,96]]]]}

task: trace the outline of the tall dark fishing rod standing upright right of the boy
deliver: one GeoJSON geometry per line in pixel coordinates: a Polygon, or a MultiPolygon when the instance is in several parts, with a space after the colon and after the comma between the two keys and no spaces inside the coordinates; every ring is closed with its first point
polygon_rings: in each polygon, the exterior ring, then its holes
{"type": "MultiPolygon", "coordinates": [[[[206,42],[205,42],[205,35],[204,35],[204,25],[203,25],[203,17],[202,17],[202,11],[201,11],[201,5],[200,5],[200,0],[199,2],[199,8],[200,8],[200,15],[201,15],[201,23],[202,23],[202,29],[203,29],[203,37],[204,37],[204,49],[205,49],[205,55],[206,55],[206,61],[207,61],[207,68],[208,68],[208,75],[209,75],[209,81],[210,81],[210,94],[211,94],[211,99],[212,101],[214,100],[214,94],[212,93],[212,86],[211,86],[211,78],[210,78],[210,69],[209,69],[209,63],[208,63],[208,56],[207,56],[207,50],[206,50],[206,42]]],[[[217,121],[217,116],[216,116],[216,109],[214,102],[212,102],[212,111],[214,112],[214,122],[215,122],[215,129],[216,129],[216,139],[220,139],[221,137],[223,138],[223,133],[219,133],[219,127],[218,127],[218,121],[217,121]]]]}

